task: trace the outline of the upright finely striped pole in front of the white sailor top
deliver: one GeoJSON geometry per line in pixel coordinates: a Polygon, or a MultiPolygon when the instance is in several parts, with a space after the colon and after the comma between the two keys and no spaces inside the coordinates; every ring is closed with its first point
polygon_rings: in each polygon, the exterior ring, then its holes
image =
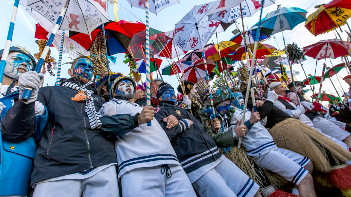
{"type": "MultiPolygon", "coordinates": [[[[149,1],[145,3],[145,27],[146,27],[146,105],[151,106],[151,94],[150,94],[150,27],[149,27],[149,1]]],[[[143,53],[143,51],[141,52],[143,53]]],[[[146,123],[147,126],[151,126],[151,121],[146,123]]]]}

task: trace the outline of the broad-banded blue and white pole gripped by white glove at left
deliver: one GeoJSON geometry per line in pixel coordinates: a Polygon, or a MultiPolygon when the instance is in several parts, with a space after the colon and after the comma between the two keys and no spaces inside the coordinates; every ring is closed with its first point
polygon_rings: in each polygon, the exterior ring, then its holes
{"type": "MultiPolygon", "coordinates": [[[[44,48],[44,50],[43,50],[43,52],[42,52],[42,54],[41,54],[41,56],[40,56],[40,59],[39,59],[39,61],[38,61],[38,64],[37,64],[37,66],[35,67],[35,70],[34,70],[34,71],[37,72],[37,73],[40,73],[40,70],[41,70],[41,67],[42,67],[43,64],[44,64],[44,60],[45,60],[45,58],[46,58],[46,55],[47,55],[47,53],[48,53],[49,50],[50,50],[51,43],[52,43],[52,41],[54,40],[54,37],[55,37],[57,31],[59,30],[59,27],[60,27],[62,18],[63,18],[63,16],[64,16],[65,13],[66,13],[66,7],[67,7],[67,5],[68,5],[68,2],[69,2],[69,0],[67,0],[65,7],[62,8],[61,14],[60,14],[59,18],[58,18],[57,21],[56,21],[55,27],[54,27],[54,29],[52,30],[51,35],[50,35],[50,37],[49,37],[49,40],[47,41],[46,46],[45,46],[45,48],[44,48]]],[[[27,88],[27,89],[25,89],[24,92],[23,92],[23,94],[22,94],[22,96],[21,96],[21,101],[22,101],[22,102],[28,102],[29,98],[31,97],[31,94],[32,94],[32,88],[27,88]]]]}

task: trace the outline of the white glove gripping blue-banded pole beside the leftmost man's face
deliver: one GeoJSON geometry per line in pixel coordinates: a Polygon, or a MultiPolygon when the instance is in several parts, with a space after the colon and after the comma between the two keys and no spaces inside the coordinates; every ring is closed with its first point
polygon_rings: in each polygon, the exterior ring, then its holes
{"type": "Polygon", "coordinates": [[[29,98],[28,102],[24,102],[25,104],[28,104],[37,100],[38,91],[40,88],[40,81],[43,78],[44,78],[44,75],[42,73],[38,74],[35,71],[29,71],[27,73],[23,73],[20,75],[18,79],[18,87],[20,88],[19,97],[20,98],[22,97],[22,94],[25,89],[32,88],[32,95],[29,98]]]}

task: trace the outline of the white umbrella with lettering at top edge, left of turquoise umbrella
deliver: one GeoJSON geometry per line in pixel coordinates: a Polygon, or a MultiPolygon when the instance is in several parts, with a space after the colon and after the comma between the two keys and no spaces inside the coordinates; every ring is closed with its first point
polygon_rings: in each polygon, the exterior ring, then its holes
{"type": "MultiPolygon", "coordinates": [[[[276,0],[266,0],[264,2],[263,7],[267,7],[270,5],[273,5],[276,2],[276,0]]],[[[243,15],[242,17],[250,17],[257,11],[261,9],[261,1],[260,0],[244,0],[241,2],[241,7],[243,9],[243,15]]],[[[241,18],[240,14],[240,4],[237,4],[234,7],[231,7],[229,9],[225,9],[216,13],[213,13],[208,16],[209,20],[220,20],[219,18],[222,19],[223,22],[228,23],[230,21],[233,21],[235,19],[241,18]]]]}

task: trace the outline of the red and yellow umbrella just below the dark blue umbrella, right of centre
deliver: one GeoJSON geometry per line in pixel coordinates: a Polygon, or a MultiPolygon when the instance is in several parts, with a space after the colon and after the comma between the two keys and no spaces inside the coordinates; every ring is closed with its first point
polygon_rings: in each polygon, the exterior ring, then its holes
{"type": "MultiPolygon", "coordinates": [[[[250,47],[251,51],[253,50],[253,44],[252,45],[247,45],[248,47],[250,47]]],[[[256,57],[255,58],[259,58],[265,55],[269,55],[272,54],[274,50],[277,50],[276,48],[274,48],[271,45],[267,45],[267,44],[258,44],[257,47],[257,53],[256,53],[256,57]]],[[[252,59],[252,55],[249,54],[249,59],[252,59]]],[[[245,54],[245,46],[241,46],[239,47],[236,52],[234,53],[232,60],[246,60],[246,54],[245,54]]]]}

